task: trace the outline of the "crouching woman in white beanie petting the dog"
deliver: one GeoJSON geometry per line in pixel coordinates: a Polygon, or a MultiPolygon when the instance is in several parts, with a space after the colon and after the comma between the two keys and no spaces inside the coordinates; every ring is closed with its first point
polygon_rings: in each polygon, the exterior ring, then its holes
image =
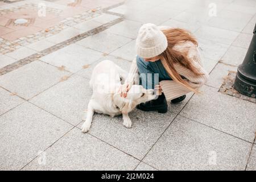
{"type": "Polygon", "coordinates": [[[159,95],[155,100],[138,105],[138,109],[166,113],[167,101],[177,103],[189,92],[199,93],[198,88],[208,80],[208,73],[201,65],[197,41],[188,31],[143,24],[136,49],[137,57],[121,86],[121,96],[126,97],[137,73],[140,84],[146,89],[155,89],[159,95]]]}

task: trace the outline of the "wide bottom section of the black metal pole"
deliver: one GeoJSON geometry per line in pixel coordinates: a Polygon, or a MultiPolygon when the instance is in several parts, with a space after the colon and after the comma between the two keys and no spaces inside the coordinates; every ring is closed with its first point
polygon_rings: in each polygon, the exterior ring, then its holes
{"type": "Polygon", "coordinates": [[[239,71],[234,81],[234,89],[245,96],[256,98],[256,84],[245,80],[245,78],[240,75],[239,71]]]}

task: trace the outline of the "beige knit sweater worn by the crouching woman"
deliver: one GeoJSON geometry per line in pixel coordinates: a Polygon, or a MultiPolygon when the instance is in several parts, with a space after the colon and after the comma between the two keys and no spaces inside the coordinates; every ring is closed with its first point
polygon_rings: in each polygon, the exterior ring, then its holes
{"type": "MultiPolygon", "coordinates": [[[[159,27],[159,28],[162,30],[165,29],[163,27],[159,27]]],[[[173,47],[173,49],[179,52],[184,52],[184,51],[187,52],[188,59],[191,61],[194,67],[197,68],[201,73],[204,73],[204,75],[196,76],[189,69],[183,67],[180,64],[175,64],[174,68],[176,69],[177,73],[187,78],[185,80],[189,83],[189,85],[192,86],[192,88],[197,89],[203,86],[205,82],[207,82],[209,75],[203,68],[203,65],[201,64],[200,53],[196,45],[190,41],[185,41],[185,42],[177,43],[173,47]]],[[[126,79],[126,82],[129,82],[130,84],[134,84],[134,81],[137,75],[138,75],[138,68],[137,68],[136,57],[135,57],[133,60],[133,63],[131,64],[131,68],[129,71],[129,75],[126,79]]],[[[174,98],[183,96],[184,94],[191,92],[191,90],[189,90],[185,86],[173,80],[160,81],[159,85],[161,86],[167,101],[170,101],[174,98]]]]}

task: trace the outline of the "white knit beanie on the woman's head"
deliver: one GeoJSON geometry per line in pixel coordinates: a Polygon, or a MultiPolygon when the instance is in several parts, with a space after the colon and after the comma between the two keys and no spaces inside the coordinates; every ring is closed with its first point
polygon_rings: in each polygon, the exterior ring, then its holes
{"type": "Polygon", "coordinates": [[[168,46],[167,38],[155,24],[146,23],[139,29],[136,40],[137,55],[143,58],[155,57],[168,46]]]}

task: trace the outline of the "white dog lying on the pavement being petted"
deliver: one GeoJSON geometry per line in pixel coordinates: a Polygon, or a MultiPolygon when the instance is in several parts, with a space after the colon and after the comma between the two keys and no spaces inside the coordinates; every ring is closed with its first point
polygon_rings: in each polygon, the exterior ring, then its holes
{"type": "Polygon", "coordinates": [[[125,80],[127,73],[112,61],[104,60],[93,69],[89,85],[93,89],[89,101],[87,115],[82,132],[89,131],[94,112],[108,114],[111,117],[122,114],[123,125],[131,127],[128,113],[138,104],[155,98],[153,89],[144,89],[141,85],[132,85],[126,98],[118,92],[125,80]]]}

